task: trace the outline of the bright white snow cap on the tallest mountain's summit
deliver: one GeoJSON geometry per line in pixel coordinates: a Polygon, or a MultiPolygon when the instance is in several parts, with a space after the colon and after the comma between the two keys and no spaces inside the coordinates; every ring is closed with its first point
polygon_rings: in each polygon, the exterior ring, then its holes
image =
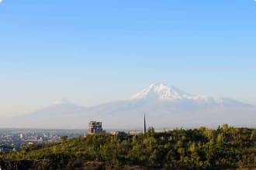
{"type": "Polygon", "coordinates": [[[150,87],[142,90],[140,93],[137,93],[131,97],[131,100],[136,99],[192,99],[189,93],[185,93],[182,90],[179,90],[176,87],[168,87],[162,83],[151,84],[150,87]]]}

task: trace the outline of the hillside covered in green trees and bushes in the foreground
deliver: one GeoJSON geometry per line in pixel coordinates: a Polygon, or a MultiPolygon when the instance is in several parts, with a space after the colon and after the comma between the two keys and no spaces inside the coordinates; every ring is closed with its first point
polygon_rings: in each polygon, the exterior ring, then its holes
{"type": "Polygon", "coordinates": [[[104,162],[112,168],[138,165],[163,169],[234,169],[256,167],[256,129],[175,129],[147,134],[89,135],[61,143],[33,145],[2,155],[10,160],[47,160],[50,168],[63,169],[82,162],[104,162]]]}

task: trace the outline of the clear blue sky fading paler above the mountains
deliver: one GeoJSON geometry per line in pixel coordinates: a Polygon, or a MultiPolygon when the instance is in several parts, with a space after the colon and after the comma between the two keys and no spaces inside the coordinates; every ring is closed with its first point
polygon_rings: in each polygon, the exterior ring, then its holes
{"type": "Polygon", "coordinates": [[[0,115],[150,83],[256,105],[254,0],[0,1],[0,115]]]}

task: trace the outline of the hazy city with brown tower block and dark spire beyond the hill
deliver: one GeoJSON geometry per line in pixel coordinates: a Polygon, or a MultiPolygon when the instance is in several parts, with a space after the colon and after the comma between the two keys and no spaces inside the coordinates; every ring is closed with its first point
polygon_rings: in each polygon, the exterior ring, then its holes
{"type": "MultiPolygon", "coordinates": [[[[144,119],[144,132],[146,131],[146,124],[144,119]]],[[[109,131],[109,134],[134,134],[143,131],[109,131]]],[[[78,138],[86,135],[106,133],[102,128],[102,122],[90,121],[88,122],[88,130],[49,130],[49,129],[0,129],[0,153],[9,151],[19,151],[22,147],[29,145],[39,145],[50,142],[60,142],[62,136],[67,138],[78,138]]]]}

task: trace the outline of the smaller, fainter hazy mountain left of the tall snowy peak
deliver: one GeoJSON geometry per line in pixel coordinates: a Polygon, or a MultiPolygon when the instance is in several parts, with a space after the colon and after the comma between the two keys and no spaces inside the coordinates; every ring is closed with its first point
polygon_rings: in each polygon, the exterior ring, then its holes
{"type": "MultiPolygon", "coordinates": [[[[12,128],[78,128],[76,124],[84,117],[87,108],[78,106],[71,101],[55,100],[47,107],[29,114],[12,117],[3,124],[12,124],[12,128]]],[[[85,122],[83,124],[85,126],[85,122]]]]}

